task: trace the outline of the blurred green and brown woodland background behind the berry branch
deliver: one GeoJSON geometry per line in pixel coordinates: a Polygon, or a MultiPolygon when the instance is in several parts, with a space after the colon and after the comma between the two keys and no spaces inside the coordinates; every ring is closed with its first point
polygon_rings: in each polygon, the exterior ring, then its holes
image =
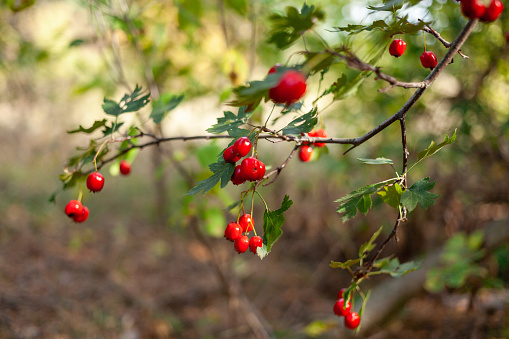
{"type": "MultiPolygon", "coordinates": [[[[449,41],[466,23],[455,1],[415,3],[399,14],[431,21],[449,41]]],[[[326,23],[317,32],[331,45],[348,44],[370,60],[390,43],[380,32],[348,36],[333,29],[386,18],[388,13],[366,9],[379,5],[376,1],[309,4],[326,10],[326,23]]],[[[302,2],[2,1],[1,338],[354,335],[332,313],[336,293],[348,286],[350,275],[329,263],[355,258],[380,226],[387,236],[396,213],[374,199],[367,216],[343,224],[334,200],[392,177],[390,167],[363,165],[357,158],[382,156],[401,167],[396,126],[347,155],[344,146],[330,145],[316,161],[291,161],[275,184],[263,188],[272,209],[285,194],[294,201],[283,236],[263,261],[250,253],[237,255],[222,238],[236,215],[225,208],[238,199],[238,187],[185,196],[208,176],[207,164],[226,141],[144,149],[129,177],[114,176],[106,167],[105,189],[84,192],[91,211],[86,223],[75,224],[63,213],[80,187],[61,191],[58,176],[76,148],[90,140],[66,131],[103,119],[104,97],[118,100],[140,84],[153,95],[185,94],[158,132],[205,135],[222,110],[231,109],[226,102],[234,86],[263,78],[276,62],[302,62],[295,54],[301,43],[282,52],[266,42],[270,13],[288,5],[300,8],[302,2]],[[48,202],[55,192],[56,202],[48,202]]],[[[456,57],[409,113],[412,162],[431,140],[440,142],[455,130],[457,138],[410,174],[410,182],[436,180],[433,192],[441,197],[428,210],[409,215],[399,242],[391,242],[384,255],[423,260],[423,268],[362,284],[373,293],[361,337],[509,337],[508,30],[507,11],[496,23],[478,25],[462,49],[470,58],[456,57]],[[445,266],[444,251],[449,253],[445,266]],[[449,284],[439,288],[430,269],[450,278],[449,284]]],[[[423,79],[429,72],[418,59],[423,36],[404,39],[404,57],[386,52],[378,64],[398,79],[423,79]]],[[[310,35],[307,43],[313,48],[319,39],[310,35]]],[[[438,57],[445,54],[429,35],[426,46],[438,57]]],[[[325,81],[341,74],[354,73],[338,66],[325,81]]],[[[309,85],[308,107],[324,89],[317,80],[309,85]]],[[[379,93],[383,87],[371,76],[344,100],[327,108],[328,102],[320,102],[320,123],[337,137],[371,130],[412,93],[400,88],[379,93]]],[[[259,115],[270,109],[264,106],[259,115]]],[[[146,122],[148,114],[125,119],[146,122]]],[[[155,129],[148,123],[144,128],[155,129]]],[[[266,142],[259,154],[275,167],[292,147],[266,142]]],[[[263,210],[255,200],[260,230],[263,210]]]]}

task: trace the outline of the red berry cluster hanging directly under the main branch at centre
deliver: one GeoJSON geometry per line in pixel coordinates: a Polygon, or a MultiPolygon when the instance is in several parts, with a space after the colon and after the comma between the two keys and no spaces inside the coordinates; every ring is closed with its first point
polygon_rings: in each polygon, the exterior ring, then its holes
{"type": "MultiPolygon", "coordinates": [[[[232,146],[223,152],[224,161],[236,163],[251,151],[251,141],[248,137],[235,140],[232,146]]],[[[265,175],[265,164],[256,157],[242,160],[240,165],[235,166],[231,181],[234,185],[240,185],[247,181],[257,181],[265,175]]]]}

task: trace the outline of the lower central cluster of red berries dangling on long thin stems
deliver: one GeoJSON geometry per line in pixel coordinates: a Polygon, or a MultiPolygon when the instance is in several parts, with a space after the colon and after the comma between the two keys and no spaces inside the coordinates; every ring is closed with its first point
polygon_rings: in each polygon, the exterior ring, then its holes
{"type": "Polygon", "coordinates": [[[248,248],[256,254],[257,248],[263,245],[263,239],[257,235],[250,239],[247,234],[253,229],[254,221],[251,214],[243,214],[238,222],[232,221],[226,226],[224,237],[233,241],[233,246],[239,254],[246,252],[248,248]]]}

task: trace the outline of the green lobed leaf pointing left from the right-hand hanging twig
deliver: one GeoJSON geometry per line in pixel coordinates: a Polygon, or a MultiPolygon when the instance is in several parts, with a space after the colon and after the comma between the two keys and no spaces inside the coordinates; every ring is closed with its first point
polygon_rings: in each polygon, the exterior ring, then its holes
{"type": "Polygon", "coordinates": [[[357,215],[357,210],[366,214],[371,208],[370,195],[375,193],[378,188],[387,185],[388,183],[389,182],[378,182],[376,184],[366,185],[350,192],[343,198],[336,200],[335,202],[342,203],[336,210],[338,213],[344,213],[341,220],[346,222],[347,220],[352,219],[357,215]]]}

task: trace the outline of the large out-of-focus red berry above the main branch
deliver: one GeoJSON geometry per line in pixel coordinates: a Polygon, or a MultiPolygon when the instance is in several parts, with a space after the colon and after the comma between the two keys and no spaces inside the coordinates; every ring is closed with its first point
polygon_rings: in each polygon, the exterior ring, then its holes
{"type": "Polygon", "coordinates": [[[275,103],[290,105],[305,92],[306,77],[301,72],[288,70],[281,75],[277,85],[269,90],[269,98],[275,103]]]}

